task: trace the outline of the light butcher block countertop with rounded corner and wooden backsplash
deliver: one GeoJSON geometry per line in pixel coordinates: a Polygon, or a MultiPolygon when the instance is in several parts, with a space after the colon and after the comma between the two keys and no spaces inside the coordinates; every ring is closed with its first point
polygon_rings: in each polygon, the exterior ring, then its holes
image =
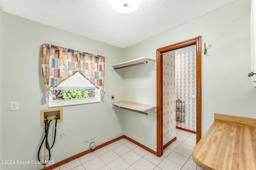
{"type": "Polygon", "coordinates": [[[203,170],[256,170],[256,119],[215,113],[192,158],[203,170]]]}

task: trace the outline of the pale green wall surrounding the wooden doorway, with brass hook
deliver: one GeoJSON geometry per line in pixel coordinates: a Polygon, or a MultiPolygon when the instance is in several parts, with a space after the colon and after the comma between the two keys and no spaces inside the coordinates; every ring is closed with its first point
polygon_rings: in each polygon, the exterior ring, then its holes
{"type": "MultiPolygon", "coordinates": [[[[256,118],[256,88],[247,76],[251,65],[250,3],[238,0],[124,49],[127,60],[156,59],[156,49],[202,36],[202,134],[213,123],[214,113],[256,118]],[[207,56],[203,53],[204,41],[207,56]]],[[[126,101],[156,106],[154,70],[126,72],[124,89],[126,101]]],[[[155,127],[154,116],[124,113],[124,135],[154,150],[155,127]]]]}

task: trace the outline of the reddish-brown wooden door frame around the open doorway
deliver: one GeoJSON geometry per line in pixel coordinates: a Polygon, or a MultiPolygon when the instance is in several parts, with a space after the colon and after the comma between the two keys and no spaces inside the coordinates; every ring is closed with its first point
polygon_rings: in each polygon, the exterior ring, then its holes
{"type": "Polygon", "coordinates": [[[176,49],[196,45],[196,143],[201,139],[201,36],[182,41],[173,45],[162,47],[156,50],[156,90],[157,90],[157,106],[156,106],[156,152],[157,156],[163,154],[163,59],[162,53],[174,51],[176,49]]]}

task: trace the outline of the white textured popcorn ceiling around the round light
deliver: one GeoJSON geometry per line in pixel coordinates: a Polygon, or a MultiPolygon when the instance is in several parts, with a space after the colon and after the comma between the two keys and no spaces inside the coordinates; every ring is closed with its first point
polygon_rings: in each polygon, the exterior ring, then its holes
{"type": "Polygon", "coordinates": [[[142,0],[120,14],[108,0],[0,0],[4,12],[126,48],[236,0],[142,0]]]}

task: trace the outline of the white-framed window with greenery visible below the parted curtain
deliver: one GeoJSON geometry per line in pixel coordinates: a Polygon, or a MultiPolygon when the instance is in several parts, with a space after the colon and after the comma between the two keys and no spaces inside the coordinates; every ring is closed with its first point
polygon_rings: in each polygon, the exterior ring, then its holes
{"type": "Polygon", "coordinates": [[[79,72],[52,88],[49,107],[68,106],[100,102],[100,90],[79,72]]]}

